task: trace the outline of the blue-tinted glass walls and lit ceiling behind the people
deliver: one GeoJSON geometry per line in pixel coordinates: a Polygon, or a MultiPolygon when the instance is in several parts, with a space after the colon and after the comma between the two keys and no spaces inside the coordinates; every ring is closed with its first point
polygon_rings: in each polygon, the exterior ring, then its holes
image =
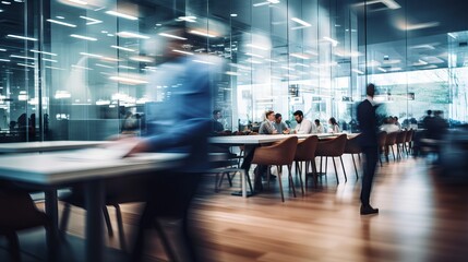
{"type": "MultiPolygon", "coordinates": [[[[147,76],[155,35],[188,28],[184,56],[224,59],[214,109],[226,129],[335,117],[345,129],[367,83],[400,122],[442,110],[468,118],[468,16],[463,0],[3,0],[0,2],[2,142],[101,140],[128,112],[157,117],[170,95],[147,76]],[[154,94],[157,94],[156,96],[154,94]],[[156,97],[156,98],[155,98],[156,97]],[[156,106],[156,107],[155,107],[156,106]],[[17,132],[20,126],[26,130],[17,132]]],[[[166,37],[173,37],[168,36],[166,37]]],[[[201,64],[207,61],[200,61],[201,64]]],[[[293,124],[293,122],[292,122],[293,124]]]]}

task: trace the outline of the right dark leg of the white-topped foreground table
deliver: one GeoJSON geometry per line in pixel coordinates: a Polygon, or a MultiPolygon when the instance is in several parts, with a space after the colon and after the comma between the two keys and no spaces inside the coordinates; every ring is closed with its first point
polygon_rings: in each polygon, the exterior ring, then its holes
{"type": "Polygon", "coordinates": [[[104,228],[103,206],[105,187],[103,180],[94,180],[85,183],[86,205],[86,261],[104,261],[104,228]]]}

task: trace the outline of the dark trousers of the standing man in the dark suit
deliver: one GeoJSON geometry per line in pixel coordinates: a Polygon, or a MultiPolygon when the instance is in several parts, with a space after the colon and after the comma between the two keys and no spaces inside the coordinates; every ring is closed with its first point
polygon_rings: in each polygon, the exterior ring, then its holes
{"type": "Polygon", "coordinates": [[[364,154],[364,176],[362,177],[362,189],[361,189],[361,204],[369,205],[369,199],[371,196],[372,181],[374,179],[375,167],[377,165],[379,153],[377,146],[365,146],[362,147],[364,154]]]}

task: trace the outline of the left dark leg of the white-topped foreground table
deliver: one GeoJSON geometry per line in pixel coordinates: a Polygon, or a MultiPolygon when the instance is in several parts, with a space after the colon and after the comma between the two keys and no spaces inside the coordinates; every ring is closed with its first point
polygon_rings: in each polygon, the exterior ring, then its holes
{"type": "Polygon", "coordinates": [[[46,214],[50,219],[50,226],[47,228],[47,251],[49,261],[58,261],[59,253],[59,211],[57,202],[57,190],[48,189],[45,191],[46,214]]]}

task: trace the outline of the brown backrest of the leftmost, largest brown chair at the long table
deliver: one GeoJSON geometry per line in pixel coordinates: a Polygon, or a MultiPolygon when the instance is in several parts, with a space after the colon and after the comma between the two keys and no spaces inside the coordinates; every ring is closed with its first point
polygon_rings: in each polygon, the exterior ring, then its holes
{"type": "Polygon", "coordinates": [[[252,164],[291,165],[297,146],[298,138],[290,136],[273,145],[257,147],[253,154],[252,164]]]}

